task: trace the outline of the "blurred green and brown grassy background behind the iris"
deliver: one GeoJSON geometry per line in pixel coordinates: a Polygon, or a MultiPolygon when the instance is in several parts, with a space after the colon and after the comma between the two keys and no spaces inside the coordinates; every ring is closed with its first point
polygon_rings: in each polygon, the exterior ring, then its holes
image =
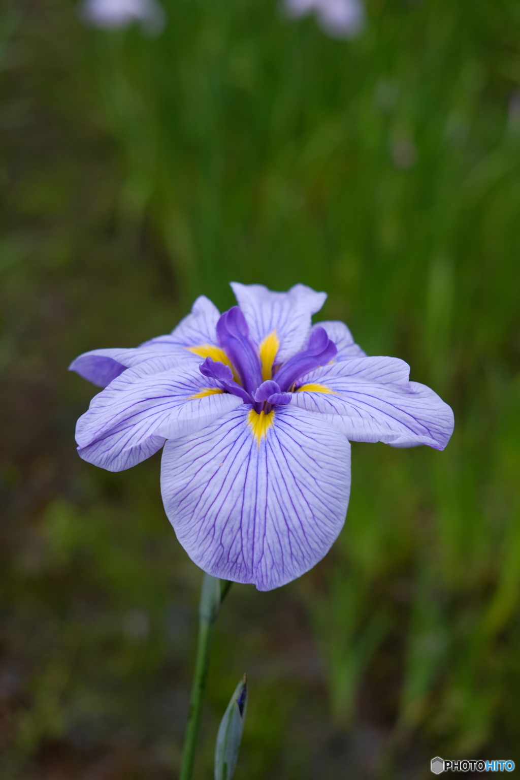
{"type": "Polygon", "coordinates": [[[196,780],[242,672],[236,780],[520,761],[520,2],[367,0],[352,41],[276,0],[0,14],[0,753],[6,780],[173,780],[200,572],[159,456],[73,441],[78,353],[170,331],[229,280],[329,293],[455,410],[445,452],[352,447],[323,562],[219,618],[196,780]]]}

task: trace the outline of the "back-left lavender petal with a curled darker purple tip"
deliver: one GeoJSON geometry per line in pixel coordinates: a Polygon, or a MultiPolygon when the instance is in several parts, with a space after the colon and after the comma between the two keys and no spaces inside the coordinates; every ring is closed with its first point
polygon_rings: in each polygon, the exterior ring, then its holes
{"type": "Polygon", "coordinates": [[[76,371],[83,379],[104,388],[126,368],[138,366],[154,357],[168,360],[172,366],[184,361],[196,365],[200,363],[200,357],[187,348],[217,345],[215,328],[218,317],[220,314],[214,303],[206,296],[200,296],[193,303],[191,313],[179,322],[171,334],[157,336],[132,349],[92,349],[76,357],[69,371],[76,371]]]}

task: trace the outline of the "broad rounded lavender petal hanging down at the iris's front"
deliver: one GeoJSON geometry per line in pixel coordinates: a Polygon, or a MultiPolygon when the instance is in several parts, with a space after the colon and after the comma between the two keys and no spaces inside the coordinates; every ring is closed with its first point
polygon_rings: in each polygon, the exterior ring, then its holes
{"type": "Polygon", "coordinates": [[[326,421],[288,406],[275,410],[257,439],[250,414],[242,405],[193,436],[167,441],[161,491],[197,566],[271,590],[311,569],[338,537],[350,445],[326,421]]]}

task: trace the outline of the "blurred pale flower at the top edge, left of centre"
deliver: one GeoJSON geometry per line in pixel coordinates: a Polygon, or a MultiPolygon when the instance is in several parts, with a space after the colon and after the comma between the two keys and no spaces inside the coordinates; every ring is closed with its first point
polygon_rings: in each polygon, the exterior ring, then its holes
{"type": "Polygon", "coordinates": [[[85,0],[81,15],[106,30],[140,22],[147,33],[157,34],[164,27],[164,11],[157,0],[85,0]]]}

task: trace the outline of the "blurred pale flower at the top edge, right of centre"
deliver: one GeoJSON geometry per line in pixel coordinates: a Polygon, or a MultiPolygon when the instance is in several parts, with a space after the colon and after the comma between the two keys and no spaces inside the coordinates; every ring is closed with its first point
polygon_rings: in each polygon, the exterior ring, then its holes
{"type": "Polygon", "coordinates": [[[293,19],[316,12],[321,29],[337,38],[356,36],[365,23],[361,0],[285,0],[285,11],[293,19]]]}

